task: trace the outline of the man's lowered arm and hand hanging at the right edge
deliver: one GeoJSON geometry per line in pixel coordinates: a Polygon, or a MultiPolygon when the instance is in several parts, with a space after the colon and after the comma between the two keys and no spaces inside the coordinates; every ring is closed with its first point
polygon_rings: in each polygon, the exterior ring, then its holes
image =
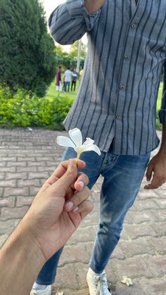
{"type": "Polygon", "coordinates": [[[145,189],[157,189],[166,181],[166,61],[163,73],[162,103],[159,111],[160,123],[162,123],[162,140],[160,150],[148,164],[146,179],[151,181],[145,189]]]}

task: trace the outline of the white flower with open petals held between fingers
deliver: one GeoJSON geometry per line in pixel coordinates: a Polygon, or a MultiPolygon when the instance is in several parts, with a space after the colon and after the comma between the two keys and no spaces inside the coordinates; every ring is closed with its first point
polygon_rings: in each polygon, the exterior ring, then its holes
{"type": "Polygon", "coordinates": [[[77,152],[77,161],[79,156],[83,151],[95,151],[98,155],[101,155],[101,151],[98,149],[98,146],[94,144],[94,140],[87,137],[86,141],[82,144],[82,132],[78,129],[69,130],[70,138],[58,136],[57,143],[59,146],[68,146],[75,149],[77,152]]]}

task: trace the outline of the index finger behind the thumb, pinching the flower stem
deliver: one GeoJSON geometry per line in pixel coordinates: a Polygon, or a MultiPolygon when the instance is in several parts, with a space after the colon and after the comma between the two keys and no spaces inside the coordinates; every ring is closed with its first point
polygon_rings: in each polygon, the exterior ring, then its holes
{"type": "MultiPolygon", "coordinates": [[[[61,162],[60,165],[58,165],[56,170],[53,172],[51,177],[49,177],[49,179],[46,180],[46,182],[44,182],[42,190],[46,190],[53,183],[55,183],[57,180],[59,180],[60,177],[62,177],[65,174],[65,172],[68,170],[68,165],[75,165],[75,163],[76,163],[76,158],[72,158],[70,160],[61,162]]],[[[85,167],[85,165],[86,165],[86,163],[81,160],[79,160],[77,163],[77,167],[79,169],[83,169],[85,167]]]]}

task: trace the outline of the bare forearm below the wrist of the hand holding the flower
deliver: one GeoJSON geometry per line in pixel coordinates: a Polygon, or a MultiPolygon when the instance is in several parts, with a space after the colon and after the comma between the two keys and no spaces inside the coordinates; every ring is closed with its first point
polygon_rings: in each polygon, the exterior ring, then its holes
{"type": "Polygon", "coordinates": [[[30,295],[44,263],[39,247],[18,225],[0,251],[0,293],[8,295],[11,290],[13,295],[30,295]]]}

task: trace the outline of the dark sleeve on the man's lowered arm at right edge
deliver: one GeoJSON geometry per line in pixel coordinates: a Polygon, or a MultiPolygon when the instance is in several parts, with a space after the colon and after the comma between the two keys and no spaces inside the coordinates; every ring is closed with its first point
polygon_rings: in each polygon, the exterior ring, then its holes
{"type": "Polygon", "coordinates": [[[161,109],[158,113],[161,124],[166,124],[166,61],[163,67],[163,89],[162,89],[162,101],[161,109]]]}

